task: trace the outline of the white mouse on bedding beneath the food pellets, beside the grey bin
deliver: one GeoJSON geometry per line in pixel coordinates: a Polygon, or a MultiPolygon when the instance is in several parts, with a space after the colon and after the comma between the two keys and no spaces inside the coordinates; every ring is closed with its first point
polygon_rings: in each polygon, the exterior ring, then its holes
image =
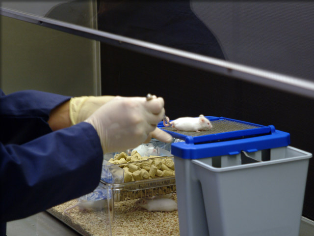
{"type": "Polygon", "coordinates": [[[143,207],[148,211],[174,211],[178,209],[176,201],[170,198],[143,198],[135,202],[137,207],[143,207]]]}

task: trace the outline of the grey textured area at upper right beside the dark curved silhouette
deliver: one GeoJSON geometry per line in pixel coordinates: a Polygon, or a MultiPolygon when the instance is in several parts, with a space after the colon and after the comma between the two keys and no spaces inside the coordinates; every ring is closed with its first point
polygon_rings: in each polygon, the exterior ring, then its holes
{"type": "Polygon", "coordinates": [[[191,0],[225,57],[314,80],[314,1],[191,0]]]}

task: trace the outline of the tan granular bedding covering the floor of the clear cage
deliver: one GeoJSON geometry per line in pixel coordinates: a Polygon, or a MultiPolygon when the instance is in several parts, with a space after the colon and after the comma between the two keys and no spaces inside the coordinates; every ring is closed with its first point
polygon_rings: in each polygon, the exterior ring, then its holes
{"type": "MultiPolygon", "coordinates": [[[[172,198],[176,201],[177,196],[172,198]]],[[[115,218],[112,224],[113,236],[179,236],[178,211],[160,212],[135,209],[136,200],[121,201],[114,204],[115,218]]],[[[52,207],[48,210],[83,236],[109,236],[108,214],[104,211],[82,211],[75,207],[69,210],[71,217],[63,211],[77,204],[77,200],[52,207]]]]}

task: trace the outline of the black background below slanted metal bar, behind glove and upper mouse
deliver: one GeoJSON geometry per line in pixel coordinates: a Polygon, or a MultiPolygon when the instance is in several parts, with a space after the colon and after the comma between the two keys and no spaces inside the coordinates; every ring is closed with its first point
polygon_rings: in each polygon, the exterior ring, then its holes
{"type": "MultiPolygon", "coordinates": [[[[291,135],[291,146],[314,153],[314,100],[101,45],[103,95],[162,96],[170,119],[200,114],[234,118],[291,135]]],[[[310,159],[303,216],[314,220],[314,158],[310,159]]]]}

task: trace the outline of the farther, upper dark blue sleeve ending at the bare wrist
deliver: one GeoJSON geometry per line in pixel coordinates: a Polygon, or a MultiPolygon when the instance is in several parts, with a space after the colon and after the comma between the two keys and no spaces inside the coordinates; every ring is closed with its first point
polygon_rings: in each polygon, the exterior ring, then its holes
{"type": "Polygon", "coordinates": [[[0,142],[24,144],[52,132],[48,120],[52,110],[70,96],[23,90],[0,96],[0,142]]]}

